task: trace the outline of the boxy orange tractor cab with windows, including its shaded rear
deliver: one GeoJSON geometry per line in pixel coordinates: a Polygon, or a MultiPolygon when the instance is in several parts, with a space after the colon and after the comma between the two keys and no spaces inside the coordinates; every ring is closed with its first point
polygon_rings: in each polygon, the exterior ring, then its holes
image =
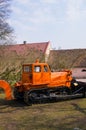
{"type": "Polygon", "coordinates": [[[33,85],[49,84],[51,71],[46,63],[24,64],[22,72],[22,82],[33,85]]]}

